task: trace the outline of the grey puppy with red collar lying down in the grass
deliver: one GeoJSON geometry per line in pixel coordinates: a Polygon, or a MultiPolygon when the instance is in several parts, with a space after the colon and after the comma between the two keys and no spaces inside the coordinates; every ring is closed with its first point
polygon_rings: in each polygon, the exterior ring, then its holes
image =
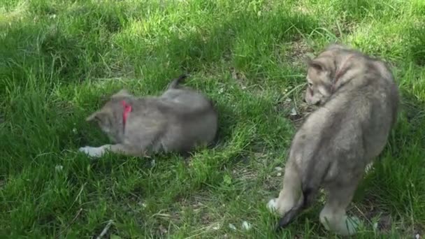
{"type": "Polygon", "coordinates": [[[87,121],[95,120],[116,144],[86,146],[80,151],[92,157],[107,151],[142,157],[154,152],[188,153],[212,143],[217,112],[206,96],[179,86],[185,78],[173,80],[161,96],[137,98],[124,89],[114,94],[87,121]]]}

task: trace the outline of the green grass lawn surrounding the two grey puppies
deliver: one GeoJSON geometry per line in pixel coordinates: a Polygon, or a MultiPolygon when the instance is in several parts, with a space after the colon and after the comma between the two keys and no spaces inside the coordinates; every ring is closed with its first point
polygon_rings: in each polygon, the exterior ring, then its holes
{"type": "Polygon", "coordinates": [[[296,131],[287,99],[301,110],[303,57],[333,41],[388,61],[402,92],[350,206],[365,222],[356,238],[423,235],[424,26],[422,0],[0,0],[0,236],[89,238],[112,219],[121,238],[335,237],[321,202],[281,233],[265,206],[296,131]],[[182,71],[217,104],[216,147],[154,164],[76,152],[108,142],[84,121],[106,97],[159,94],[182,71]]]}

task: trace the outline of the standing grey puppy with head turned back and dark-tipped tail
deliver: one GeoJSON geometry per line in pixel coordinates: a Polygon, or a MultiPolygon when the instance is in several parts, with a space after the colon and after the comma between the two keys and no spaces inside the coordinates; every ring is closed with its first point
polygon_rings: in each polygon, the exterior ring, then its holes
{"type": "Polygon", "coordinates": [[[356,233],[359,219],[346,208],[368,164],[387,143],[398,113],[398,87],[378,59],[330,45],[309,61],[305,101],[319,106],[296,132],[285,166],[283,188],[268,208],[287,226],[323,187],[320,212],[326,229],[356,233]]]}

